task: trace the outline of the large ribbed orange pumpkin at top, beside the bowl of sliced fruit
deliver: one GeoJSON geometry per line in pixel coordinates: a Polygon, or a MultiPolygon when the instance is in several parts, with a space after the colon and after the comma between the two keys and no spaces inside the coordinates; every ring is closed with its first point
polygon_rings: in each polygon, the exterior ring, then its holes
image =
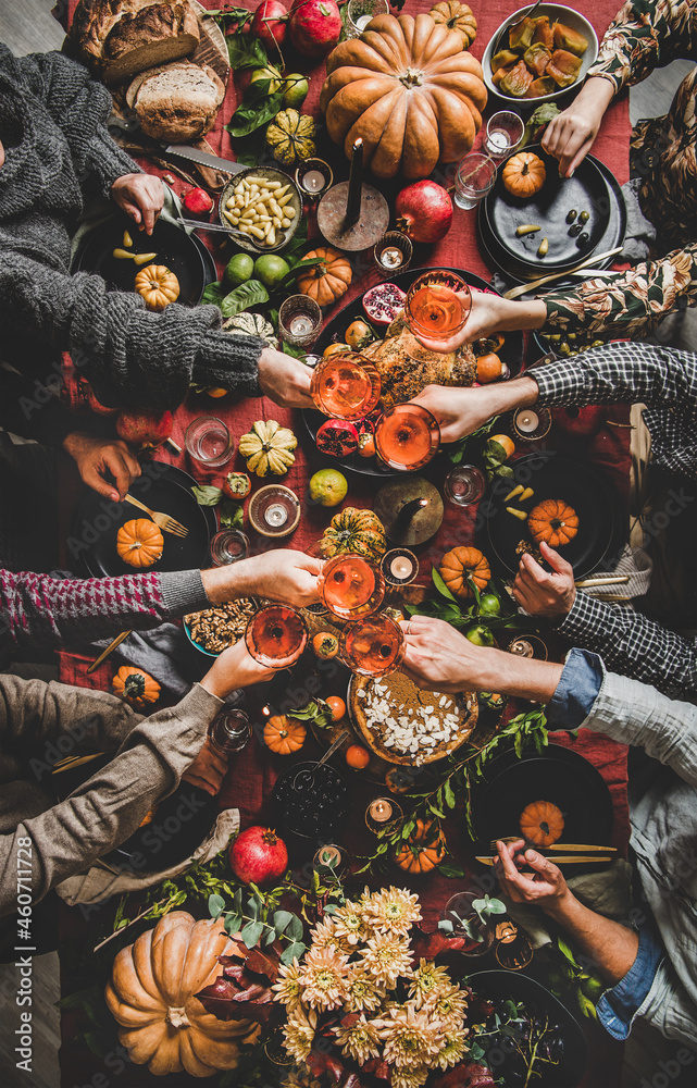
{"type": "Polygon", "coordinates": [[[472,149],[482,125],[482,67],[462,37],[431,15],[378,15],[329,54],[320,106],[350,158],[363,140],[377,177],[427,177],[472,149]]]}

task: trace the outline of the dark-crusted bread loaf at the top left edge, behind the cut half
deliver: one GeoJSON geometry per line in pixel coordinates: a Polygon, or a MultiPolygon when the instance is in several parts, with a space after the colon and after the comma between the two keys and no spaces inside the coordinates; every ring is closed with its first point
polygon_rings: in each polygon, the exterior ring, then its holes
{"type": "Polygon", "coordinates": [[[188,57],[199,25],[187,0],[79,0],[70,36],[77,58],[115,86],[188,57]]]}

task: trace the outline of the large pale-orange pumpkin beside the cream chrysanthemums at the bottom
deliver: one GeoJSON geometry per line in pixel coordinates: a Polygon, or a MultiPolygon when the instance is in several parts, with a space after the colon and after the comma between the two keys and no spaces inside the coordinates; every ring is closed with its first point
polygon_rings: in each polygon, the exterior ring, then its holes
{"type": "Polygon", "coordinates": [[[132,1062],[155,1076],[210,1077],[237,1066],[237,1043],[253,1025],[217,1019],[195,994],[222,974],[217,956],[239,948],[220,922],[173,911],[121,950],[104,997],[132,1062]]]}

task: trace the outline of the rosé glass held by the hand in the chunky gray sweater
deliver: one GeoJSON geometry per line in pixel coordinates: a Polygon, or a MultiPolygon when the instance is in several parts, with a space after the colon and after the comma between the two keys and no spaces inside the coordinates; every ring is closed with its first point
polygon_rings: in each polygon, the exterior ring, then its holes
{"type": "Polygon", "coordinates": [[[356,351],[332,355],[312,371],[310,396],[333,419],[362,419],[375,408],[379,393],[375,364],[356,351]]]}

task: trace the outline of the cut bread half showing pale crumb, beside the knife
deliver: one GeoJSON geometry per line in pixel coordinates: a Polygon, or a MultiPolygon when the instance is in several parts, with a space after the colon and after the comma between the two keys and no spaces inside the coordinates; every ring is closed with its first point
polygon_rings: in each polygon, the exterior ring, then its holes
{"type": "Polygon", "coordinates": [[[210,132],[224,97],[213,69],[190,61],[141,72],[126,91],[142,132],[169,144],[188,144],[210,132]]]}

